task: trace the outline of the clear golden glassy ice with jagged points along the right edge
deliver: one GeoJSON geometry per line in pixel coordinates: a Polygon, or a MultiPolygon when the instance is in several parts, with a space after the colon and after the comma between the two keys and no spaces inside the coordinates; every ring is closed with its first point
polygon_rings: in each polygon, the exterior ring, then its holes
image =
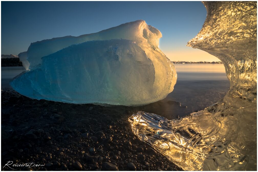
{"type": "Polygon", "coordinates": [[[219,58],[230,80],[223,100],[180,119],[139,111],[140,140],[183,170],[257,170],[257,2],[204,2],[207,18],[188,46],[219,58]]]}

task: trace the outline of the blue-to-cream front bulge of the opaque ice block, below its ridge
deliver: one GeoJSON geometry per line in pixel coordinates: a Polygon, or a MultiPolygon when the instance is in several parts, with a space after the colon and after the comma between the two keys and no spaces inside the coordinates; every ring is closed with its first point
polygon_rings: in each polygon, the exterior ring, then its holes
{"type": "MultiPolygon", "coordinates": [[[[171,63],[158,63],[164,66],[159,73],[173,72],[171,63]]],[[[158,82],[155,70],[134,41],[88,41],[43,57],[38,68],[14,78],[11,86],[35,99],[134,106],[163,99],[172,91],[168,88],[175,77],[158,82]]]]}

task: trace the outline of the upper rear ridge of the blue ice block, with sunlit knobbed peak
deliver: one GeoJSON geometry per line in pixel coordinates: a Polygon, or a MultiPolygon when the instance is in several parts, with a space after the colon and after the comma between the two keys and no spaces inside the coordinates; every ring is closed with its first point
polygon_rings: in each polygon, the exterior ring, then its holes
{"type": "MultiPolygon", "coordinates": [[[[158,52],[162,53],[158,49],[160,37],[162,37],[162,34],[158,29],[147,25],[143,20],[137,20],[134,22],[121,24],[119,26],[112,27],[97,33],[85,34],[77,37],[64,36],[37,41],[30,44],[27,52],[19,54],[19,58],[27,70],[33,69],[34,66],[41,64],[41,58],[43,56],[55,53],[72,44],[79,44],[86,41],[111,39],[126,39],[135,41],[144,49],[144,51],[146,46],[151,46],[152,49],[156,49],[158,52]]],[[[147,50],[146,53],[148,52],[150,51],[147,50]]]]}

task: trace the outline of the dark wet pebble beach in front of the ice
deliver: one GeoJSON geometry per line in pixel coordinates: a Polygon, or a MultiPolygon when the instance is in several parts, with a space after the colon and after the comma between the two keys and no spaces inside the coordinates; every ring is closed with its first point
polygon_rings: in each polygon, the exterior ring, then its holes
{"type": "Polygon", "coordinates": [[[135,109],[34,100],[4,89],[1,170],[180,170],[140,141],[127,121],[135,109]],[[4,167],[4,168],[3,168],[4,167]]]}

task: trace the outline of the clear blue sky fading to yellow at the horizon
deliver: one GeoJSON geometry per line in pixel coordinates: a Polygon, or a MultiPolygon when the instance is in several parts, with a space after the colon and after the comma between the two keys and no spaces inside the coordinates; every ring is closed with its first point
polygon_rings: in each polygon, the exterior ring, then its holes
{"type": "Polygon", "coordinates": [[[145,20],[163,37],[159,48],[172,61],[219,61],[187,42],[200,31],[201,2],[1,2],[1,54],[18,55],[31,42],[79,36],[145,20]]]}

